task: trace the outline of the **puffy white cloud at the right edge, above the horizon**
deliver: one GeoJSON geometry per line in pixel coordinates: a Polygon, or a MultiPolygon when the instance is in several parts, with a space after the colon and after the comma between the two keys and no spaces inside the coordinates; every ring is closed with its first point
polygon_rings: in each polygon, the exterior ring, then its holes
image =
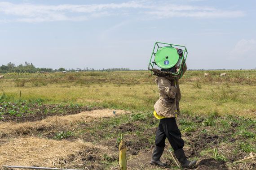
{"type": "Polygon", "coordinates": [[[255,58],[256,53],[256,40],[241,39],[235,47],[228,52],[230,59],[238,58],[255,58]]]}

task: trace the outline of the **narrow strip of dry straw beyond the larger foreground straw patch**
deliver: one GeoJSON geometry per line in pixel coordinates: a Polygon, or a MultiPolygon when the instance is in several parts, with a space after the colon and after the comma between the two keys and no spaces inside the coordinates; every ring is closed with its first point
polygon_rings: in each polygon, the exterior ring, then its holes
{"type": "MultiPolygon", "coordinates": [[[[116,114],[128,113],[124,110],[116,110],[116,114]]],[[[66,116],[52,116],[36,122],[6,122],[0,123],[0,137],[2,136],[14,136],[14,135],[26,135],[35,131],[50,131],[58,130],[61,128],[75,128],[75,124],[78,122],[89,122],[93,119],[101,117],[113,117],[113,110],[92,110],[84,111],[75,115],[66,116]]]]}

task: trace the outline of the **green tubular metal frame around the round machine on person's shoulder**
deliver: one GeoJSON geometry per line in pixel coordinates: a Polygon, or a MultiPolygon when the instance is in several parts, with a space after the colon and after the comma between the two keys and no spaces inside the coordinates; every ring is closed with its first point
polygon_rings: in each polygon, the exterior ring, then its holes
{"type": "MultiPolygon", "coordinates": [[[[177,44],[169,44],[169,43],[156,42],[156,43],[154,43],[154,49],[153,49],[151,57],[150,57],[150,62],[149,62],[149,66],[148,66],[149,70],[154,68],[154,65],[155,65],[154,63],[152,63],[152,62],[154,62],[153,56],[155,57],[156,52],[159,50],[159,48],[166,47],[166,45],[171,46],[171,47],[183,47],[183,48],[185,48],[185,49],[182,49],[183,55],[182,55],[182,60],[181,60],[180,68],[182,68],[184,66],[185,61],[187,59],[187,55],[188,55],[188,51],[187,51],[187,48],[185,46],[181,46],[181,45],[177,45],[177,44]]],[[[152,71],[151,71],[151,74],[152,74],[152,71]]],[[[177,73],[170,72],[170,74],[172,74],[172,76],[178,78],[179,75],[181,75],[181,76],[183,75],[183,72],[182,72],[182,69],[179,69],[179,71],[177,73]]],[[[179,78],[181,78],[181,76],[179,78]]]]}

